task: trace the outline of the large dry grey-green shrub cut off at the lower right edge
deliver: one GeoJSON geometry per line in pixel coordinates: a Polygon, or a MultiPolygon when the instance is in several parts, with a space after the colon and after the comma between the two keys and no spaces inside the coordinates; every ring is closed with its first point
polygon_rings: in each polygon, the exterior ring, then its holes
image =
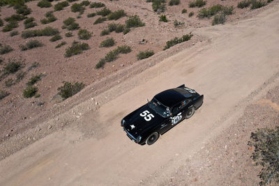
{"type": "Polygon", "coordinates": [[[262,166],[259,172],[259,185],[279,183],[279,127],[275,129],[262,128],[252,132],[248,146],[254,146],[252,160],[257,166],[262,166]]]}

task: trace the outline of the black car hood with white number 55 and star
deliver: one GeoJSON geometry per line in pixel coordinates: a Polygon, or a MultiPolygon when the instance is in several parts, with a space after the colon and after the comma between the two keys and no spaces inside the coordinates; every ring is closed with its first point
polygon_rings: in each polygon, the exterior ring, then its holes
{"type": "Polygon", "coordinates": [[[144,132],[144,130],[149,129],[154,125],[159,125],[165,120],[163,116],[160,116],[156,113],[156,111],[153,111],[153,109],[151,109],[148,104],[144,104],[144,106],[136,109],[123,119],[126,121],[124,124],[125,130],[127,130],[134,137],[137,137],[142,132],[144,132]],[[148,112],[154,117],[149,116],[149,114],[147,114],[148,112]],[[146,113],[147,121],[144,118],[144,113],[146,113]],[[140,114],[142,114],[142,116],[140,116],[140,114]],[[150,117],[151,120],[148,121],[150,117]]]}

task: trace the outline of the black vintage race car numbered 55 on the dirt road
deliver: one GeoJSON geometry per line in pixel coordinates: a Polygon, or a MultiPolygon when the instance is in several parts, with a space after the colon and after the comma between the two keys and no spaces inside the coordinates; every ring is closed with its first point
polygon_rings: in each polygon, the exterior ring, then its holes
{"type": "Polygon", "coordinates": [[[160,134],[193,116],[203,100],[204,95],[183,84],[155,95],[151,102],[124,117],[121,127],[137,144],[152,145],[160,134]]]}

